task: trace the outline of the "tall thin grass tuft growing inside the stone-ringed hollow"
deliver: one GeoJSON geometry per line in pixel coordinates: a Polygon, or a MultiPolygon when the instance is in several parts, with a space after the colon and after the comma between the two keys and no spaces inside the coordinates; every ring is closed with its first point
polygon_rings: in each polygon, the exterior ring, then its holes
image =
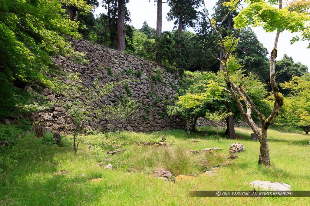
{"type": "Polygon", "coordinates": [[[193,154],[181,145],[177,145],[175,148],[136,146],[132,149],[132,153],[134,153],[130,160],[132,170],[150,172],[156,168],[165,168],[174,176],[198,176],[223,162],[221,157],[213,157],[204,153],[193,154]]]}

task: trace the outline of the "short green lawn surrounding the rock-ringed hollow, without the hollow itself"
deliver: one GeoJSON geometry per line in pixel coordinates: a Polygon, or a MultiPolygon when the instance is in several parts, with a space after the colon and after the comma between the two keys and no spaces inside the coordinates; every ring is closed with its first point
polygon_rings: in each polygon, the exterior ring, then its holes
{"type": "MultiPolygon", "coordinates": [[[[210,132],[210,131],[209,131],[210,132]]],[[[212,132],[212,131],[211,131],[212,132]]],[[[242,143],[246,152],[233,161],[233,165],[218,176],[171,183],[149,177],[144,171],[128,173],[123,170],[106,170],[98,167],[87,145],[82,145],[76,156],[69,145],[64,148],[46,146],[36,158],[24,159],[0,179],[0,205],[309,205],[309,197],[188,197],[190,190],[249,190],[245,181],[280,181],[293,190],[310,190],[309,137],[290,133],[269,132],[272,167],[257,164],[259,142],[250,140],[251,131],[237,128],[237,140],[203,137],[201,132],[187,136],[184,131],[163,131],[151,134],[124,132],[119,142],[158,141],[165,135],[191,149],[221,147],[228,154],[234,142],[242,143]],[[194,145],[190,139],[199,140],[194,145]],[[55,175],[60,170],[69,174],[55,175]],[[85,174],[85,177],[81,175],[85,174]],[[99,183],[91,178],[101,177],[99,183]]],[[[87,141],[100,139],[88,136],[87,141]]],[[[109,140],[113,140],[110,137],[109,140]]],[[[123,148],[129,149],[126,145],[123,148]]]]}

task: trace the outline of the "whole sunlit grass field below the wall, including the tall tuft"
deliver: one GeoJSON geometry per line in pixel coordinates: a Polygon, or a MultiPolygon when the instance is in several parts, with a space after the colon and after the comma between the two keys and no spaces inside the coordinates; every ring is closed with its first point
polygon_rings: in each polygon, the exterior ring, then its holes
{"type": "Polygon", "coordinates": [[[272,166],[265,168],[258,165],[259,142],[251,141],[249,129],[236,128],[235,140],[220,137],[218,142],[214,134],[212,128],[201,128],[191,136],[181,130],[122,132],[120,136],[111,133],[89,135],[83,137],[84,143],[76,156],[68,143],[69,137],[66,137],[68,140],[64,147],[42,145],[34,155],[25,155],[14,168],[1,175],[0,205],[310,204],[309,197],[189,197],[188,191],[192,190],[250,190],[243,183],[253,180],[279,181],[290,184],[292,190],[310,190],[309,136],[270,130],[272,166]],[[203,136],[205,132],[207,134],[203,136]],[[159,141],[162,135],[166,136],[167,142],[174,142],[172,148],[180,153],[171,154],[163,148],[129,144],[159,141]],[[199,142],[190,144],[191,139],[199,142]],[[114,141],[127,143],[121,148],[127,151],[107,158],[106,147],[114,141]],[[86,142],[92,145],[92,149],[88,149],[86,142]],[[246,152],[239,153],[240,157],[232,161],[232,166],[224,167],[218,176],[199,176],[204,170],[226,160],[228,149],[235,142],[243,144],[246,152]],[[221,153],[226,156],[194,157],[187,150],[213,147],[223,148],[221,153]],[[182,149],[186,152],[182,153],[182,149]],[[115,170],[104,169],[98,166],[98,162],[104,165],[111,162],[115,170]],[[173,183],[149,175],[160,166],[171,167],[175,176],[189,174],[197,178],[173,183]],[[61,171],[69,173],[61,174],[61,171]],[[90,181],[91,178],[102,179],[90,181]]]}

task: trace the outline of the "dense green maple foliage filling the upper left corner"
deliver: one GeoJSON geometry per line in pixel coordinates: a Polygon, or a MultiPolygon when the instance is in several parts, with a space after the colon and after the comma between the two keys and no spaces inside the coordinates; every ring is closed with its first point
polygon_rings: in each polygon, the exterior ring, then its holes
{"type": "MultiPolygon", "coordinates": [[[[65,4],[83,13],[92,9],[86,1],[65,4]]],[[[0,19],[0,115],[36,111],[43,99],[38,94],[51,86],[49,77],[58,70],[51,56],[69,55],[86,63],[66,37],[80,37],[78,22],[68,18],[63,2],[46,0],[3,1],[0,19]]]]}

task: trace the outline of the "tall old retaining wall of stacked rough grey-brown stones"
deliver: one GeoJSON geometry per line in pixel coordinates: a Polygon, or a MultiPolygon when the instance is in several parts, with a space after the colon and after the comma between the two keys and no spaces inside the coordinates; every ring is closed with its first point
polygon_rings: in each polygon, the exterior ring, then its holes
{"type": "MultiPolygon", "coordinates": [[[[164,103],[165,99],[168,99],[170,103],[174,101],[175,93],[179,87],[179,81],[181,81],[177,71],[175,73],[168,72],[165,67],[160,67],[154,62],[121,53],[98,44],[93,44],[83,39],[73,40],[69,38],[69,41],[72,42],[76,51],[86,53],[85,58],[89,60],[89,63],[79,65],[70,61],[69,57],[58,56],[53,59],[56,66],[59,66],[65,72],[78,74],[78,77],[83,82],[83,86],[87,88],[92,86],[92,82],[95,79],[98,79],[99,83],[102,84],[117,82],[119,80],[128,80],[131,98],[141,103],[138,113],[132,115],[126,121],[117,123],[107,119],[94,119],[87,123],[85,126],[86,129],[101,131],[124,129],[129,131],[148,132],[186,128],[184,119],[178,116],[167,115],[166,105],[164,103]],[[112,75],[108,68],[110,68],[112,75]],[[161,77],[163,81],[160,83],[154,82],[151,78],[152,75],[154,75],[155,68],[162,70],[161,77]],[[140,78],[136,75],[138,71],[142,72],[140,78]],[[155,104],[155,99],[158,97],[161,98],[161,101],[155,104]]],[[[65,101],[64,97],[58,96],[48,89],[44,90],[44,95],[51,101],[56,99],[65,101]]],[[[117,98],[126,96],[128,96],[128,94],[125,88],[120,85],[117,86],[112,93],[104,96],[101,99],[101,103],[111,105],[118,101],[117,98]]],[[[48,127],[50,131],[68,132],[70,128],[73,127],[72,119],[61,107],[53,107],[37,114],[33,113],[31,118],[37,120],[42,126],[48,127]]],[[[198,127],[211,125],[215,126],[207,120],[197,120],[198,127]]],[[[224,125],[226,125],[226,123],[221,123],[221,126],[224,125]]]]}

